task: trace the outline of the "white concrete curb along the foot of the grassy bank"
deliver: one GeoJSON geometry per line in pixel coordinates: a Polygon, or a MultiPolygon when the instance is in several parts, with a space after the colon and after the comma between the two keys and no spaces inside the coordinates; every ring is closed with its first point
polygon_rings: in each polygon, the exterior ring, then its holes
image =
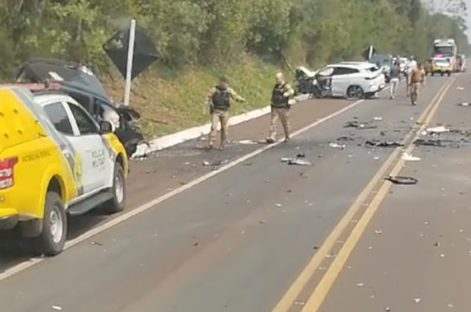
{"type": "MultiPolygon", "coordinates": [[[[296,98],[297,102],[307,100],[307,95],[301,95],[296,98]]],[[[255,109],[244,114],[233,116],[229,119],[229,125],[234,126],[247,122],[249,120],[259,118],[263,115],[266,115],[270,112],[270,106],[264,108],[255,109]]],[[[137,147],[137,151],[132,155],[132,158],[143,157],[149,153],[160,151],[177,144],[184,143],[189,140],[197,139],[203,135],[209,134],[211,125],[205,124],[202,126],[197,126],[189,129],[185,129],[173,134],[169,134],[160,138],[156,138],[148,144],[140,144],[137,147]]]]}

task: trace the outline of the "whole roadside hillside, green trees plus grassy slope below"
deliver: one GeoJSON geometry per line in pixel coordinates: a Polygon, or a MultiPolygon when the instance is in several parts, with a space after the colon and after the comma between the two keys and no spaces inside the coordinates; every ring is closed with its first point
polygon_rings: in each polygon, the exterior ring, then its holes
{"type": "Polygon", "coordinates": [[[435,37],[468,46],[462,21],[420,0],[0,0],[0,76],[11,79],[33,56],[85,61],[120,101],[123,81],[102,45],[130,16],[162,56],[133,86],[152,135],[205,122],[220,75],[249,99],[236,113],[267,105],[274,73],[288,72],[284,59],[319,66],[358,58],[370,44],[425,58],[435,37]]]}

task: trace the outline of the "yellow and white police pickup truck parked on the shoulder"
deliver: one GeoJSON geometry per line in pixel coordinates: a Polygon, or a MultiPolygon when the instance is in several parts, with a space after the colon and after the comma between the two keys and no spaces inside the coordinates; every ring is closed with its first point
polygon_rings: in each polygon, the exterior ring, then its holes
{"type": "Polygon", "coordinates": [[[70,96],[44,85],[0,85],[0,229],[59,254],[66,215],[124,209],[126,151],[70,96]]]}

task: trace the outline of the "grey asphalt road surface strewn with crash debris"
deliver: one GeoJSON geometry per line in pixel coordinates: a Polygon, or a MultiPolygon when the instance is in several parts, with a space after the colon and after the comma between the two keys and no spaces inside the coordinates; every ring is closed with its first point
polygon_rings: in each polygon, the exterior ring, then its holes
{"type": "MultiPolygon", "coordinates": [[[[469,76],[455,78],[432,123],[466,128],[471,107],[456,103],[471,97],[468,90],[457,89],[469,84],[469,76]]],[[[266,148],[237,141],[263,139],[267,117],[234,127],[235,143],[224,151],[205,151],[204,142],[196,140],[133,163],[128,213],[141,213],[102,232],[97,229],[120,216],[75,218],[70,239],[76,244],[58,257],[33,260],[37,263],[24,270],[27,248],[4,240],[0,272],[15,274],[0,280],[0,310],[272,311],[323,250],[326,238],[370,180],[398,152],[393,147],[366,147],[365,141],[402,141],[418,130],[422,112],[438,103],[439,90],[451,82],[430,78],[417,107],[409,104],[403,90],[396,100],[382,95],[357,103],[304,128],[291,142],[227,170],[203,162],[230,164],[266,148]],[[350,121],[371,121],[372,127],[345,128],[350,121]],[[346,147],[334,148],[332,142],[346,147]],[[312,165],[280,161],[297,154],[305,154],[303,159],[312,165]],[[210,172],[212,177],[200,178],[210,172]],[[142,206],[169,192],[172,196],[166,200],[142,206]],[[93,230],[99,233],[81,239],[93,230]]],[[[298,104],[292,112],[293,128],[302,129],[352,104],[298,104]]],[[[387,193],[358,244],[351,246],[351,257],[333,267],[343,268],[338,276],[326,278],[333,276],[332,267],[319,266],[295,296],[287,296],[287,309],[277,311],[301,311],[309,298],[316,299],[315,289],[327,288],[322,311],[445,311],[449,305],[468,311],[463,307],[471,288],[466,283],[471,273],[471,236],[466,235],[471,232],[466,218],[471,214],[466,205],[469,149],[461,145],[415,149],[414,156],[422,161],[406,163],[401,174],[413,175],[419,183],[394,186],[392,194],[387,193]],[[331,287],[326,286],[329,281],[331,287]]],[[[338,251],[322,256],[340,261],[336,253],[348,249],[342,240],[348,241],[354,229],[342,232],[338,251]]]]}

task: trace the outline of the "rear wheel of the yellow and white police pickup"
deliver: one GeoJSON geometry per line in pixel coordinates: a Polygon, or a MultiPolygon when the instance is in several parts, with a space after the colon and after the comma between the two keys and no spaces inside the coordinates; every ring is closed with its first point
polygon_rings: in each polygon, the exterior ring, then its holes
{"type": "Polygon", "coordinates": [[[67,215],[59,194],[48,192],[42,220],[42,232],[35,238],[38,253],[55,256],[64,250],[67,238],[67,215]]]}

